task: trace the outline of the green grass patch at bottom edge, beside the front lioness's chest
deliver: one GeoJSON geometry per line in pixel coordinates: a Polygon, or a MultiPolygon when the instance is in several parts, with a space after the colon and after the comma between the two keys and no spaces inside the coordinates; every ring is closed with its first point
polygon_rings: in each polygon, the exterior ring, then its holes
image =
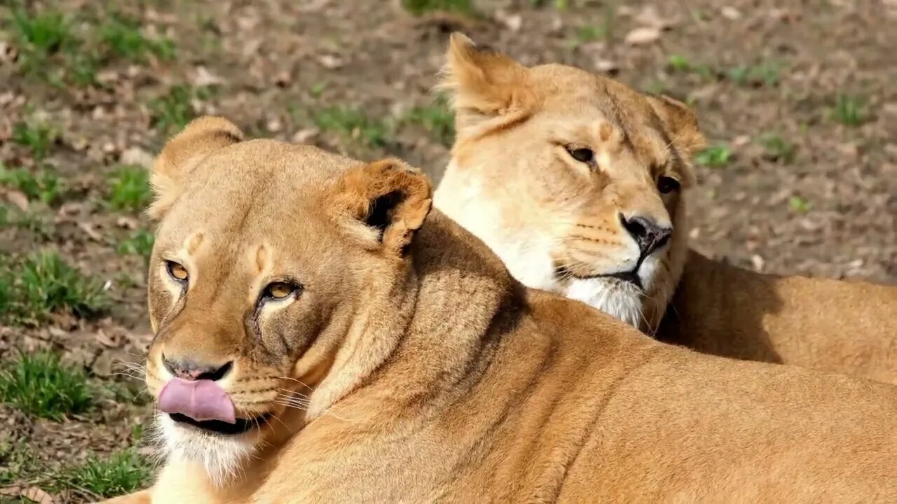
{"type": "Polygon", "coordinates": [[[126,449],[108,458],[88,456],[83,465],[63,470],[59,483],[109,498],[138,491],[151,477],[152,464],[135,450],[126,449]]]}

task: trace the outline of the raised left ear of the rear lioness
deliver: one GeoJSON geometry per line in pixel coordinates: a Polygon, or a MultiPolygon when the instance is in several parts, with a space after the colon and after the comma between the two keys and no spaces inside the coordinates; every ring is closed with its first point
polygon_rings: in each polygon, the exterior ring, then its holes
{"type": "Polygon", "coordinates": [[[457,131],[464,134],[483,121],[525,117],[536,105],[527,85],[528,70],[511,57],[478,48],[461,33],[452,33],[443,79],[438,89],[452,94],[457,131]]]}

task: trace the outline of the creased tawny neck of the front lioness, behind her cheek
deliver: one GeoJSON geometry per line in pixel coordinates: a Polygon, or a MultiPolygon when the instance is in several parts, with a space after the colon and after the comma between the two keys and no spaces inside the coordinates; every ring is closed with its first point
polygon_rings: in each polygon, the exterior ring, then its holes
{"type": "Polygon", "coordinates": [[[409,253],[412,260],[393,282],[378,278],[378,292],[360,297],[378,301],[353,316],[331,372],[312,395],[308,421],[358,402],[378,404],[378,417],[402,416],[422,397],[438,403],[463,392],[478,362],[488,359],[492,347],[483,338],[494,332],[496,317],[511,317],[506,312],[523,295],[522,285],[439,211],[409,253]]]}

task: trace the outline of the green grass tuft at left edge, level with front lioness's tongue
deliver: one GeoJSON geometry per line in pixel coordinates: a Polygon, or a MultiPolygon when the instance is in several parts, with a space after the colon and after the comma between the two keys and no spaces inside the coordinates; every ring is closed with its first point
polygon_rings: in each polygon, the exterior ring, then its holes
{"type": "Polygon", "coordinates": [[[83,370],[65,366],[51,352],[22,354],[0,369],[0,401],[54,421],[84,413],[92,404],[83,370]]]}

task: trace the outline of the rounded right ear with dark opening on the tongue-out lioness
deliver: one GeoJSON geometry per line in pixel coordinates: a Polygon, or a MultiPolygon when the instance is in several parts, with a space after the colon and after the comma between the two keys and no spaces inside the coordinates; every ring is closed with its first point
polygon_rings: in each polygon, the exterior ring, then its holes
{"type": "Polygon", "coordinates": [[[405,162],[388,159],[353,167],[336,184],[334,200],[368,248],[403,256],[432,206],[430,180],[405,162]]]}

